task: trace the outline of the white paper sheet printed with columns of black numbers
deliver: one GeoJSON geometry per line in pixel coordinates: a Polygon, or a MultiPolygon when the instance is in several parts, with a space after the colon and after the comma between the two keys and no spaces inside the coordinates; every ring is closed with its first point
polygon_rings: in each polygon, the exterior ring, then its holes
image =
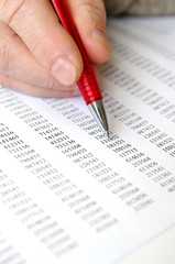
{"type": "Polygon", "coordinates": [[[175,19],[108,23],[108,140],[83,99],[0,88],[0,263],[117,263],[175,224],[175,19]]]}

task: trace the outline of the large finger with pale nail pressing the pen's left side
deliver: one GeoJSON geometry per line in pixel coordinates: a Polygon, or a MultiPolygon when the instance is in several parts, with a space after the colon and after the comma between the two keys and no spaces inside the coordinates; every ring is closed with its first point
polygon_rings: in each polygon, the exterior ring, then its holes
{"type": "Polygon", "coordinates": [[[20,35],[40,64],[63,85],[76,82],[83,70],[81,56],[48,0],[4,2],[0,2],[0,19],[20,35]]]}

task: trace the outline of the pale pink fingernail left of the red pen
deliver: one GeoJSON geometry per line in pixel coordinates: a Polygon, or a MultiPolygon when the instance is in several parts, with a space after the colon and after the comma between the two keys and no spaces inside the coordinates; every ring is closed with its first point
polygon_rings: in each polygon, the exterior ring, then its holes
{"type": "Polygon", "coordinates": [[[53,76],[65,86],[70,86],[76,79],[75,66],[68,58],[59,58],[52,66],[53,76]]]}

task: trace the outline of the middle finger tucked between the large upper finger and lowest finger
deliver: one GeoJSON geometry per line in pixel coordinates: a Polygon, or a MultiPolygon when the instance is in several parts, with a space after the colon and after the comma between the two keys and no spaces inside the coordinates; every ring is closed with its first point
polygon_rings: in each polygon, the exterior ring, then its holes
{"type": "Polygon", "coordinates": [[[0,21],[0,73],[34,86],[69,90],[46,72],[22,40],[0,21]]]}

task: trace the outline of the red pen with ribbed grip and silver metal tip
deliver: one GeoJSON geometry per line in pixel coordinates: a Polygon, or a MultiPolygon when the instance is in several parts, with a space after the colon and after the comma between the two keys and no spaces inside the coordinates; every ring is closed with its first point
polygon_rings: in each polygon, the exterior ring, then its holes
{"type": "Polygon", "coordinates": [[[84,44],[80,40],[78,31],[70,16],[68,6],[66,6],[65,0],[51,0],[51,1],[55,8],[55,11],[61,20],[62,25],[74,38],[83,56],[84,70],[80,79],[77,81],[79,90],[95,120],[98,122],[100,128],[107,133],[109,138],[109,127],[99,85],[95,77],[91,64],[85,51],[84,44]]]}

